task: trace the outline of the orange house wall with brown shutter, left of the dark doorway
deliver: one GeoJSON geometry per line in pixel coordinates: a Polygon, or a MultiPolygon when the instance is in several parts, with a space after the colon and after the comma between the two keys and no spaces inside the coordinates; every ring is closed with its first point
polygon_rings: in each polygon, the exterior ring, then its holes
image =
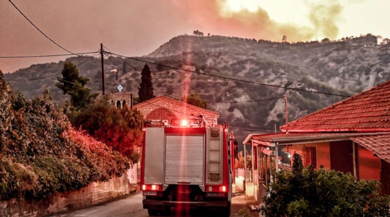
{"type": "MultiPolygon", "coordinates": [[[[324,166],[324,169],[330,170],[331,169],[331,155],[330,155],[330,149],[329,149],[329,142],[313,142],[309,144],[297,144],[289,146],[289,150],[291,152],[291,156],[294,153],[299,154],[304,158],[305,153],[303,153],[303,150],[305,147],[315,147],[316,149],[316,157],[317,157],[317,168],[319,169],[321,165],[324,166]]],[[[292,163],[292,158],[291,158],[292,163]]]]}

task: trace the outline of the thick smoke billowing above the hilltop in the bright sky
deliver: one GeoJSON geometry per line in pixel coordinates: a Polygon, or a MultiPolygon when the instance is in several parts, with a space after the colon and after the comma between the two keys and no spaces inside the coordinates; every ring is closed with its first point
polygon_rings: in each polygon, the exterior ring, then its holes
{"type": "Polygon", "coordinates": [[[226,9],[226,0],[175,1],[176,5],[189,13],[189,21],[204,31],[212,30],[218,35],[243,38],[270,39],[280,41],[283,35],[290,41],[306,41],[338,36],[337,21],[342,6],[338,1],[305,2],[310,10],[308,20],[312,26],[293,23],[278,23],[270,18],[267,11],[242,9],[234,12],[226,9]]]}

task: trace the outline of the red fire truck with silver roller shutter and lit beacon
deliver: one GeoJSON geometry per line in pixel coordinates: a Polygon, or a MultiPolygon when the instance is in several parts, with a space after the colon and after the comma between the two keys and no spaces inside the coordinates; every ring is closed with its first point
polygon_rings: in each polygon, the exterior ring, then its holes
{"type": "Polygon", "coordinates": [[[237,142],[227,123],[209,126],[202,116],[149,120],[143,139],[142,203],[150,216],[166,215],[171,207],[230,215],[237,142]]]}

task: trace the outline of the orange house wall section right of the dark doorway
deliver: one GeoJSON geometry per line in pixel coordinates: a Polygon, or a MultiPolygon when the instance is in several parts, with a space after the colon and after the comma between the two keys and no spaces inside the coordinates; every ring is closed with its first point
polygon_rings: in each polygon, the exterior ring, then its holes
{"type": "Polygon", "coordinates": [[[375,179],[381,178],[381,159],[375,157],[373,153],[366,148],[356,145],[357,147],[357,170],[360,179],[375,179]]]}

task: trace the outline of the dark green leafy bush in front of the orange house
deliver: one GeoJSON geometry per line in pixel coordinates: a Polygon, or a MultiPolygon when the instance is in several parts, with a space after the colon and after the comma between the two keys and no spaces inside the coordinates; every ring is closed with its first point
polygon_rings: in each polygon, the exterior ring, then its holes
{"type": "Polygon", "coordinates": [[[282,171],[267,188],[262,212],[269,217],[374,217],[390,215],[390,196],[380,196],[380,183],[351,174],[304,168],[293,156],[292,172],[282,171]]]}

